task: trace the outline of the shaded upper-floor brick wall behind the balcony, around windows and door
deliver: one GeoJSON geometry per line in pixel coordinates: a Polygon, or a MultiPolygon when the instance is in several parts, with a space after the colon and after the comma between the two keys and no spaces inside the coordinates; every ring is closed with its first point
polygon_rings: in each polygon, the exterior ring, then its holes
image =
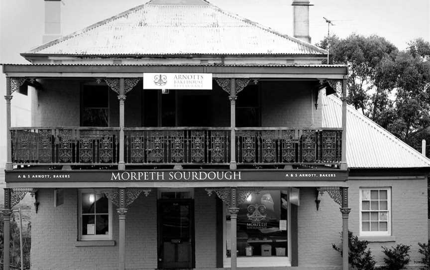
{"type": "MultiPolygon", "coordinates": [[[[41,83],[44,89],[37,91],[37,104],[33,106],[33,126],[79,126],[82,82],[84,81],[43,80],[41,83]]],[[[311,93],[312,85],[283,81],[260,83],[262,85],[261,118],[263,127],[321,127],[322,111],[321,108],[315,109],[315,97],[311,93]]],[[[177,92],[179,120],[183,97],[208,95],[208,92],[201,93],[192,90],[177,92]]],[[[172,94],[175,93],[170,95],[172,94]]],[[[209,114],[208,126],[228,127],[230,125],[228,95],[216,85],[209,95],[208,106],[212,112],[209,114]]],[[[141,85],[127,93],[125,100],[126,127],[142,126],[142,101],[141,85]]],[[[113,91],[109,91],[109,123],[111,127],[119,125],[119,102],[113,91]]],[[[181,126],[181,123],[179,125],[181,126]]],[[[19,123],[18,126],[20,126],[19,123]]]]}

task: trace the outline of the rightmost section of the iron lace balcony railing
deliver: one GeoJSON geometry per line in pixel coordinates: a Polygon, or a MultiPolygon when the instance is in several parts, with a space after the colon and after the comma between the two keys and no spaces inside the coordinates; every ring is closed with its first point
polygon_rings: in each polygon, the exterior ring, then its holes
{"type": "Polygon", "coordinates": [[[237,128],[237,163],[336,164],[341,129],[237,128]]]}

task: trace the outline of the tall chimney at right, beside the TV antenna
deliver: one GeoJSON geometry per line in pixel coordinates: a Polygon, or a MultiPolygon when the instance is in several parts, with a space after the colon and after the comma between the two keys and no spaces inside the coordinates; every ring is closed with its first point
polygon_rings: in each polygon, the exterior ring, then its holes
{"type": "Polygon", "coordinates": [[[293,0],[294,37],[311,43],[309,35],[309,0],[293,0]]]}

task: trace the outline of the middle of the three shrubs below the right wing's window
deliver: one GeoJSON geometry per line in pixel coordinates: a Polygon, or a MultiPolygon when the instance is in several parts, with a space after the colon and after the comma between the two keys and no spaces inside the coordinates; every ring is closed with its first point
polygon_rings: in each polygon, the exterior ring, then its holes
{"type": "Polygon", "coordinates": [[[398,244],[396,247],[391,247],[391,249],[388,249],[386,247],[382,247],[382,249],[382,252],[386,256],[386,258],[384,258],[385,266],[380,267],[378,269],[401,270],[405,269],[406,265],[408,265],[411,261],[409,259],[409,252],[411,250],[410,246],[398,244]]]}

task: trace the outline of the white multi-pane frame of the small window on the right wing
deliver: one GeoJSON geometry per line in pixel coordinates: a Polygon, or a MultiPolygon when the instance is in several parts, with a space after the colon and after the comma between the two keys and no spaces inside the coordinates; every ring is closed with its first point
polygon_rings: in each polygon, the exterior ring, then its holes
{"type": "MultiPolygon", "coordinates": [[[[379,200],[379,199],[378,199],[379,200]]],[[[385,210],[378,210],[379,212],[385,212],[385,210]]],[[[378,214],[379,216],[379,214],[378,214]]],[[[391,187],[360,187],[359,188],[359,231],[360,236],[391,236],[391,187]],[[386,190],[387,191],[387,231],[363,231],[362,212],[371,212],[370,210],[363,210],[362,203],[362,191],[363,190],[386,190]]]]}

